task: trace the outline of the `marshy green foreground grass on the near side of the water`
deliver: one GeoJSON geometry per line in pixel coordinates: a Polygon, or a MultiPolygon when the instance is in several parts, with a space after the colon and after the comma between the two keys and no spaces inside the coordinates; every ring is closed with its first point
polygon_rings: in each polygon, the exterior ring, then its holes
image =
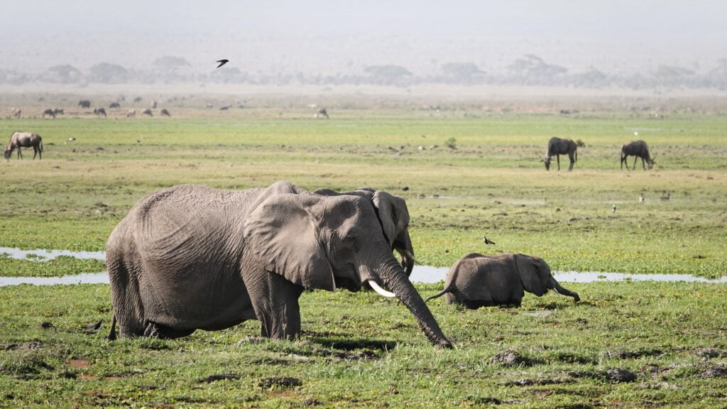
{"type": "MultiPolygon", "coordinates": [[[[583,302],[550,293],[527,295],[521,309],[467,311],[432,301],[451,351],[433,349],[401,303],[374,293],[305,293],[297,341],[262,340],[259,322],[245,322],[111,342],[108,286],[2,287],[0,407],[725,405],[727,287],[566,286],[583,302]],[[100,319],[100,330],[85,327],[100,319]],[[515,365],[493,361],[507,350],[515,365]],[[635,380],[609,379],[615,369],[635,380]]],[[[424,296],[437,290],[419,285],[424,296]]]]}

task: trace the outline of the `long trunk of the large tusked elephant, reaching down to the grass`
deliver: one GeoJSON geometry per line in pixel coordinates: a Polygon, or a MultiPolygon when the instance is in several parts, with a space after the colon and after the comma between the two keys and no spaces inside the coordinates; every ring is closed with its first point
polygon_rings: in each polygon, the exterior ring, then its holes
{"type": "Polygon", "coordinates": [[[411,284],[409,278],[406,277],[403,269],[395,260],[392,259],[382,271],[379,271],[379,277],[382,279],[383,284],[396,294],[399,301],[414,314],[414,317],[417,318],[417,322],[419,323],[419,327],[422,328],[422,331],[424,331],[434,346],[440,348],[452,347],[449,340],[439,328],[439,324],[434,319],[432,312],[429,311],[424,300],[422,300],[422,296],[417,293],[414,285],[411,284]]]}

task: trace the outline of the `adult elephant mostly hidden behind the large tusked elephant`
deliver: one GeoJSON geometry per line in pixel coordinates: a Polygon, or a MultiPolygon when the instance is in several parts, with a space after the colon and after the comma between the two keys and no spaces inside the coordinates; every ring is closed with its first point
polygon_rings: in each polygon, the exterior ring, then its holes
{"type": "Polygon", "coordinates": [[[324,188],[317,189],[313,193],[323,196],[352,195],[369,200],[374,206],[384,235],[391,245],[391,250],[395,250],[401,255],[401,266],[404,273],[406,277],[411,276],[411,271],[414,269],[414,248],[411,246],[411,237],[409,237],[409,208],[406,207],[404,199],[369,187],[342,193],[324,188]]]}

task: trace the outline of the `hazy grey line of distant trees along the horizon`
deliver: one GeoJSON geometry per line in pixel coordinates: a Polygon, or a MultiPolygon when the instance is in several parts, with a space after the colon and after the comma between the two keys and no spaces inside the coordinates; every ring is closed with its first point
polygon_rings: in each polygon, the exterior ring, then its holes
{"type": "Polygon", "coordinates": [[[41,74],[26,74],[0,68],[0,84],[47,82],[55,84],[125,84],[158,82],[209,82],[220,84],[377,84],[409,87],[414,84],[493,84],[534,85],[545,87],[603,88],[622,87],[633,90],[652,88],[727,89],[727,58],[718,60],[710,70],[696,72],[676,65],[660,65],[653,71],[635,74],[607,74],[597,68],[571,73],[568,68],[545,62],[537,55],[525,55],[513,61],[505,71],[488,73],[475,63],[450,62],[439,67],[438,74],[417,75],[400,65],[368,65],[360,74],[310,74],[303,72],[247,72],[236,67],[222,67],[199,73],[182,57],[163,56],[145,70],[124,68],[114,63],[98,63],[81,71],[73,65],[54,65],[41,74]]]}

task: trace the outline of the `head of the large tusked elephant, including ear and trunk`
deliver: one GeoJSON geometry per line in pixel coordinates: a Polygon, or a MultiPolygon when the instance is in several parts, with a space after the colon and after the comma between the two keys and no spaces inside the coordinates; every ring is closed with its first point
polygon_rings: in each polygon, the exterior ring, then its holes
{"type": "Polygon", "coordinates": [[[353,196],[279,194],[262,202],[245,224],[245,251],[267,271],[307,288],[358,291],[387,287],[417,318],[427,338],[451,346],[391,253],[374,207],[353,196]]]}

